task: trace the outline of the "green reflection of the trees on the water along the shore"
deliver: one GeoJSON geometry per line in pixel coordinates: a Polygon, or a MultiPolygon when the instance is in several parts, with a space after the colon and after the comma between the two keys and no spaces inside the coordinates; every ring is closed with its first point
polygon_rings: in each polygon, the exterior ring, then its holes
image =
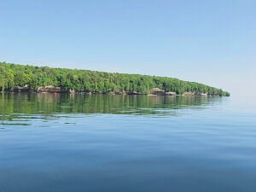
{"type": "Polygon", "coordinates": [[[220,102],[221,97],[207,96],[0,94],[0,119],[45,119],[65,113],[165,116],[177,115],[181,109],[206,109],[220,102]]]}

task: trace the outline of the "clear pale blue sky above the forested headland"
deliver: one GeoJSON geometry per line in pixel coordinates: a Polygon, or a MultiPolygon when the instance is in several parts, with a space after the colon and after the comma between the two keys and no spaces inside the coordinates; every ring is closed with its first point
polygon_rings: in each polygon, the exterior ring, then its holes
{"type": "Polygon", "coordinates": [[[168,76],[256,95],[256,1],[3,0],[0,60],[168,76]]]}

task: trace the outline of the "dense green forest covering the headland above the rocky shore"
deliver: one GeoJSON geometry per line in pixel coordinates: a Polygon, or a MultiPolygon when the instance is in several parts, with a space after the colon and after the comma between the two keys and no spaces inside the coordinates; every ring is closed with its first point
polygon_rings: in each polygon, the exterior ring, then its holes
{"type": "Polygon", "coordinates": [[[148,94],[152,88],[177,95],[204,93],[209,96],[230,96],[230,93],[206,84],[183,81],[167,77],[141,74],[105,73],[79,69],[35,67],[0,62],[0,89],[12,90],[19,86],[38,90],[41,86],[52,85],[62,90],[91,93],[113,91],[148,94]]]}

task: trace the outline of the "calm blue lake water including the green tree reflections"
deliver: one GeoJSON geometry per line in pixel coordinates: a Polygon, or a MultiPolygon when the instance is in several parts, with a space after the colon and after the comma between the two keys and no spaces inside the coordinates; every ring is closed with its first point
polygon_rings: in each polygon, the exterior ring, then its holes
{"type": "Polygon", "coordinates": [[[0,191],[254,192],[249,101],[0,94],[0,191]]]}

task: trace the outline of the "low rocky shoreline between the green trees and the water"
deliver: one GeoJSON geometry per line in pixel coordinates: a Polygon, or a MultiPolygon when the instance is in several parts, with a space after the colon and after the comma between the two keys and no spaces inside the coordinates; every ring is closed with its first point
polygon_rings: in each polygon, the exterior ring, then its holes
{"type": "Polygon", "coordinates": [[[219,95],[209,95],[207,93],[196,93],[196,92],[185,92],[183,95],[178,95],[176,92],[160,90],[159,88],[152,88],[149,90],[148,94],[142,94],[137,91],[125,91],[125,90],[114,90],[108,93],[103,92],[93,92],[93,91],[76,91],[76,90],[64,90],[61,87],[55,87],[52,85],[49,86],[41,86],[38,87],[38,90],[32,90],[27,86],[20,87],[16,86],[10,90],[6,90],[5,92],[33,92],[33,93],[69,93],[69,94],[85,94],[85,95],[92,95],[92,94],[107,94],[107,95],[148,95],[148,96],[219,96],[219,95]]]}

